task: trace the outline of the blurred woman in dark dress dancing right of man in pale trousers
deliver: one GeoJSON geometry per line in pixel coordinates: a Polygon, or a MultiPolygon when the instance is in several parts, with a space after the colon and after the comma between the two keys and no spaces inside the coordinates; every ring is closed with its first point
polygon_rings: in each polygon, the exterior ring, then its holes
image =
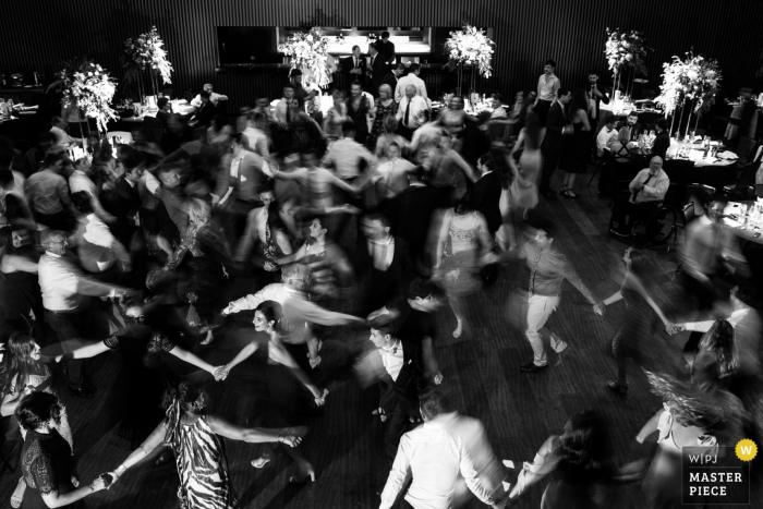
{"type": "Polygon", "coordinates": [[[640,343],[645,342],[654,334],[655,318],[659,317],[663,323],[669,323],[650,296],[652,288],[650,274],[653,269],[651,259],[633,247],[626,250],[622,259],[627,269],[622,286],[617,293],[604,300],[604,305],[618,301],[625,301],[626,304],[622,323],[611,340],[611,351],[617,360],[617,380],[607,385],[615,392],[626,393],[628,391],[626,377],[628,357],[641,364],[644,348],[640,343]]]}

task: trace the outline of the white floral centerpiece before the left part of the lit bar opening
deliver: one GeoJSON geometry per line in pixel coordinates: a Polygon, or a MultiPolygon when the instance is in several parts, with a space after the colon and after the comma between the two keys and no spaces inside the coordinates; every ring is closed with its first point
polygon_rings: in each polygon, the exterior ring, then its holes
{"type": "Polygon", "coordinates": [[[278,51],[289,57],[289,75],[294,69],[300,69],[307,74],[305,80],[312,76],[322,88],[331,83],[328,72],[328,37],[317,26],[291,34],[286,43],[278,46],[278,51]]]}

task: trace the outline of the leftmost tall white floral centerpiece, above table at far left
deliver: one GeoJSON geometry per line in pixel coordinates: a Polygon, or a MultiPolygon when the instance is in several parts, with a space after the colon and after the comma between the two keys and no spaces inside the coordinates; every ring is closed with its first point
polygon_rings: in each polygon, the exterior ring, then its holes
{"type": "Polygon", "coordinates": [[[117,119],[117,112],[111,109],[117,80],[92,60],[76,58],[63,62],[63,70],[49,88],[62,90],[64,108],[78,108],[86,118],[95,119],[99,133],[106,133],[106,123],[117,119]]]}

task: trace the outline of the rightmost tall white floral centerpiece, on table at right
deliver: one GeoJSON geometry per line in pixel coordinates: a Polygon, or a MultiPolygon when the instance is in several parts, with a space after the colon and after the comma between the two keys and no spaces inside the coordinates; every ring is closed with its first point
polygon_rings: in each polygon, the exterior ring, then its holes
{"type": "Polygon", "coordinates": [[[694,56],[692,51],[686,53],[686,59],[673,57],[673,61],[663,64],[663,84],[659,86],[659,96],[655,101],[665,107],[665,117],[673,114],[670,121],[670,132],[676,120],[675,112],[680,108],[678,120],[678,133],[681,131],[683,121],[683,109],[691,102],[689,110],[689,121],[687,131],[691,122],[692,111],[697,114],[697,122],[700,116],[706,111],[715,101],[723,78],[718,62],[706,59],[701,54],[694,56]]]}

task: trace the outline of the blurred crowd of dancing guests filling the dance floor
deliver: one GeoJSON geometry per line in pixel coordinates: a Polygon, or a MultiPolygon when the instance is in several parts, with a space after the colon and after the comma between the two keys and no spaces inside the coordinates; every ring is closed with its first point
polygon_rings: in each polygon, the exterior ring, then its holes
{"type": "MultiPolygon", "coordinates": [[[[378,395],[383,509],[453,507],[460,477],[483,502],[511,506],[553,472],[544,508],[610,507],[596,486],[635,482],[649,507],[675,507],[682,446],[731,445],[725,433],[735,425],[754,432],[746,408],[760,316],[754,291],[727,270],[744,259],[718,226],[726,198],[710,197],[706,216],[687,228],[675,288],[691,310],[661,304],[654,257],[625,245],[620,290],[596,295],[534,210],[538,195],[556,199],[557,167],[560,194],[578,197],[576,175],[619,140],[611,119],[593,132],[607,100],[596,73],[571,92],[548,61],[536,92],[506,108],[496,97],[493,113],[471,116],[458,95],[433,109],[419,65],[390,65],[387,49],[363,57],[358,48],[343,63],[349,95],[332,90],[325,111],[295,71],[272,109],[262,97],[229,121],[218,110],[228,98],[208,85],[190,114],[159,99],[159,138],[138,130],[122,144],[84,140],[76,160],[70,148],[83,140],[65,118],[26,154],[0,140],[0,413],[23,439],[14,507],[73,507],[149,455],[174,459],[181,507],[239,507],[225,439],[266,444],[252,468],[286,453],[291,483],[319,483],[304,423],[335,411],[332,388],[347,373],[374,389],[364,397],[378,395]],[[495,122],[516,136],[492,141],[495,122]],[[692,331],[685,373],[647,373],[664,402],[637,437],[654,445],[647,460],[615,464],[596,412],[579,409],[517,474],[480,421],[450,402],[457,377],[437,361],[437,322],[477,341],[470,298],[517,264],[529,269],[513,322],[530,346],[516,366],[522,376],[554,376],[548,367],[574,347],[546,326],[564,305],[565,280],[591,317],[625,302],[608,384],[621,397],[629,363],[653,353],[645,338],[657,327],[692,331]],[[253,328],[240,327],[241,314],[253,328]],[[216,354],[231,344],[234,355],[216,354]],[[119,435],[132,452],[88,484],[77,478],[72,436],[88,417],[66,402],[101,396],[89,359],[112,350],[131,380],[119,435]],[[251,376],[261,381],[252,393],[232,396],[237,422],[216,415],[208,388],[235,378],[249,387],[251,376]]],[[[635,129],[623,124],[625,144],[635,129]]],[[[658,185],[650,180],[661,163],[655,157],[656,170],[634,180],[632,196],[658,185]]]]}

